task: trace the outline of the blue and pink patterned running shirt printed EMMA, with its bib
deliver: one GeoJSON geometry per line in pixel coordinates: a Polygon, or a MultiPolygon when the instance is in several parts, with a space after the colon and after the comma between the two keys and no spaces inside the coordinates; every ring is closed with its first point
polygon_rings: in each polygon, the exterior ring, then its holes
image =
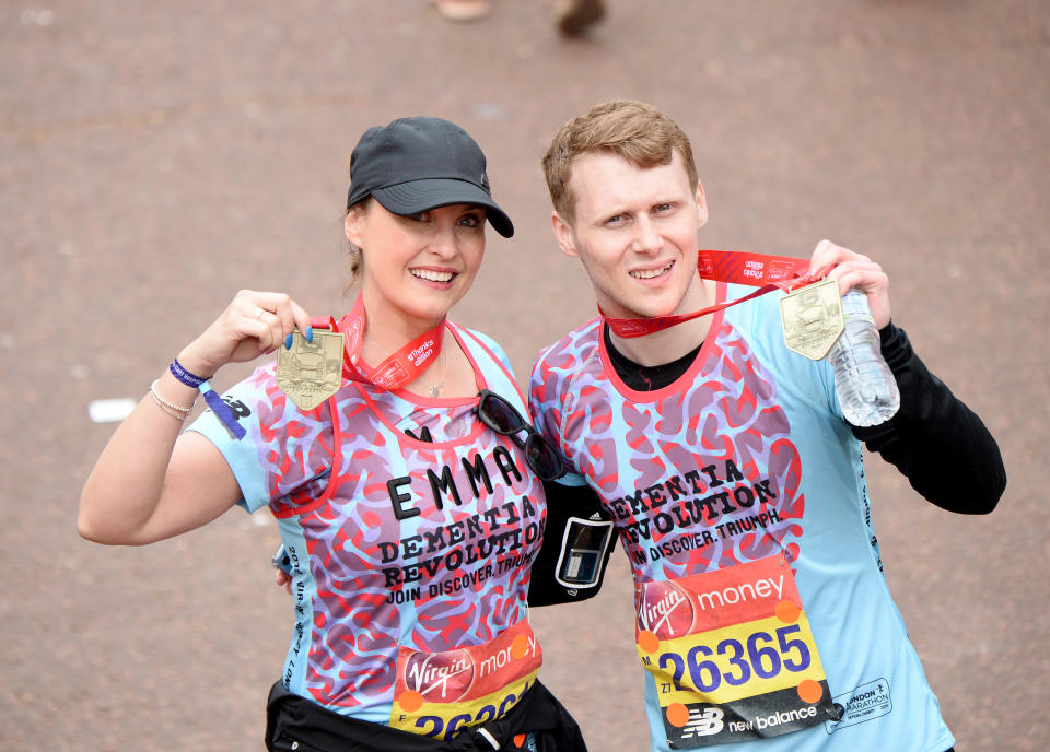
{"type": "MultiPolygon", "coordinates": [[[[506,356],[448,325],[480,388],[525,412],[506,356]]],[[[268,506],[293,567],[295,624],[282,683],[329,710],[448,738],[502,717],[541,651],[526,619],[546,524],[523,451],[485,427],[477,398],[429,399],[345,383],[302,411],[273,365],[191,426],[222,453],[242,506],[268,506]]]]}

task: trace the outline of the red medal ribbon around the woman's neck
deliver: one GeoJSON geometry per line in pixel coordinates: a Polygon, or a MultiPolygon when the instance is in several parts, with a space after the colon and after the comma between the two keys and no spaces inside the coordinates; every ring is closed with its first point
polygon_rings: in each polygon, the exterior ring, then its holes
{"type": "Polygon", "coordinates": [[[381,389],[393,390],[415,381],[427,371],[441,353],[445,319],[429,331],[399,348],[397,352],[380,363],[375,368],[361,359],[364,344],[364,331],[368,320],[364,314],[364,301],[361,295],[353,302],[350,313],[342,317],[336,327],[335,319],[314,319],[315,326],[341,331],[343,339],[342,376],[351,381],[373,384],[381,389]]]}

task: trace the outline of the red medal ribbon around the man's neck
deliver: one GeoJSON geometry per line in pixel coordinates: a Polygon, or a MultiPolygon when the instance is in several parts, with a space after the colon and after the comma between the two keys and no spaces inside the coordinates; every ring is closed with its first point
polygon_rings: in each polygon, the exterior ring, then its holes
{"type": "Polygon", "coordinates": [[[831,267],[828,266],[809,273],[809,261],[789,258],[788,256],[767,256],[739,250],[701,250],[699,254],[697,270],[702,279],[732,284],[747,284],[758,287],[758,290],[736,301],[727,301],[702,310],[673,316],[609,318],[602,313],[599,307],[598,313],[608,322],[612,333],[625,339],[644,337],[684,321],[691,321],[695,318],[728,308],[737,303],[750,301],[773,290],[790,292],[804,287],[807,284],[819,282],[831,271],[831,267]]]}

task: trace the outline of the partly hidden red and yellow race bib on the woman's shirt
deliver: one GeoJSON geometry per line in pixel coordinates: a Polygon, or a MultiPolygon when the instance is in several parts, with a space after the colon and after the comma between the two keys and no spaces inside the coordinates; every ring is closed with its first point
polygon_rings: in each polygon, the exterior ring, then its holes
{"type": "Polygon", "coordinates": [[[502,718],[536,681],[542,662],[525,619],[482,645],[444,653],[401,646],[390,726],[451,739],[466,726],[502,718]]]}

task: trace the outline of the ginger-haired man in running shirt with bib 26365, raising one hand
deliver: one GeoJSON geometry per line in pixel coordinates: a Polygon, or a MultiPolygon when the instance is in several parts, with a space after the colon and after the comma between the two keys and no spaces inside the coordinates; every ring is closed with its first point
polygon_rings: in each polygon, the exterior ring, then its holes
{"type": "Polygon", "coordinates": [[[894,419],[858,428],[830,366],[786,349],[782,293],[688,316],[756,290],[698,272],[707,203],[666,115],[598,105],[544,168],[602,316],[540,353],[530,408],[630,559],[652,749],[949,750],[882,574],[858,439],[953,512],[991,512],[1005,471],[891,322],[886,273],[827,240],[809,259],[838,294],[865,293],[900,387],[894,419]]]}

